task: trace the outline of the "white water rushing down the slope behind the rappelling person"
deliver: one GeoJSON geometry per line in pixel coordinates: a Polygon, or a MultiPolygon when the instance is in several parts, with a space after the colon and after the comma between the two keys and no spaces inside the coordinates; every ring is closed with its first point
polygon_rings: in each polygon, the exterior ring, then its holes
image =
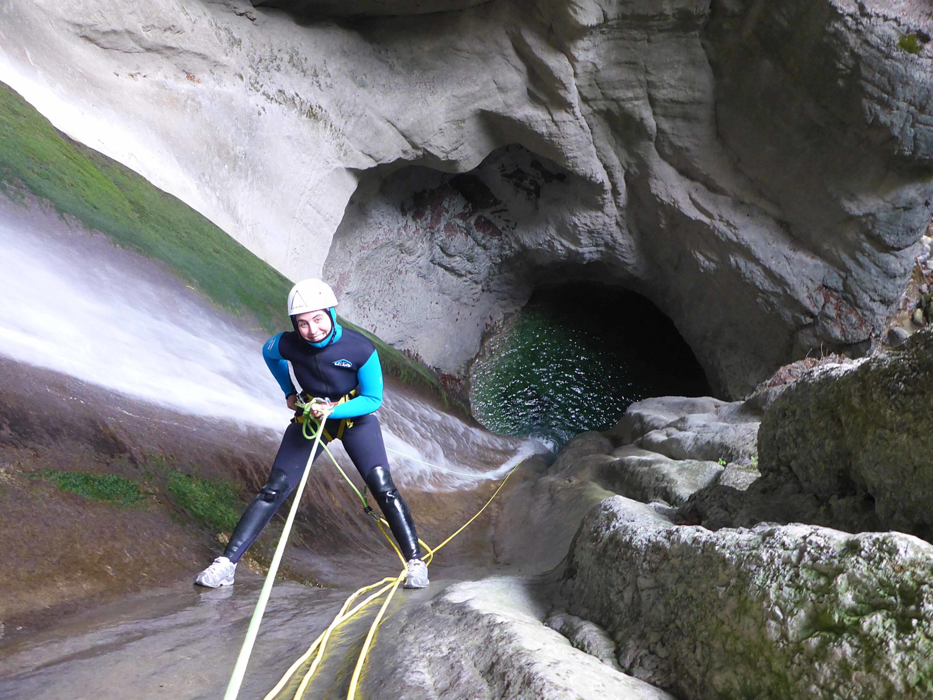
{"type": "MultiPolygon", "coordinates": [[[[276,431],[287,424],[291,413],[261,357],[265,336],[159,262],[49,213],[0,207],[0,266],[0,354],[182,413],[276,431]]],[[[481,478],[541,450],[421,399],[389,394],[379,415],[388,448],[481,478]]],[[[336,454],[349,467],[342,449],[336,454]]],[[[389,461],[399,483],[425,489],[476,481],[394,454],[389,461]]]]}

